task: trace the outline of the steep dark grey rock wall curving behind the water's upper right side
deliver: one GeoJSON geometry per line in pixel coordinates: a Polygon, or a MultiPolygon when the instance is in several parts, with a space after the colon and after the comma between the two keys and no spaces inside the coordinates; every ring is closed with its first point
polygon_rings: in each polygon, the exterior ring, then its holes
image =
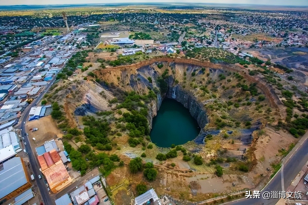
{"type": "Polygon", "coordinates": [[[169,87],[165,97],[175,99],[177,102],[180,102],[184,107],[186,107],[193,118],[197,120],[201,129],[208,123],[206,112],[197,102],[197,99],[182,90],[180,86],[169,87]]]}

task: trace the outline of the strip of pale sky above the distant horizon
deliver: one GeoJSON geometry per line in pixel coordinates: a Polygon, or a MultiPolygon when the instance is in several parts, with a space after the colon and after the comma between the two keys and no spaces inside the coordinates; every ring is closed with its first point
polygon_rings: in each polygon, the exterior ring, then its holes
{"type": "Polygon", "coordinates": [[[308,0],[0,0],[0,5],[51,5],[51,4],[109,4],[109,3],[221,3],[221,4],[259,4],[277,6],[308,6],[308,0]]]}

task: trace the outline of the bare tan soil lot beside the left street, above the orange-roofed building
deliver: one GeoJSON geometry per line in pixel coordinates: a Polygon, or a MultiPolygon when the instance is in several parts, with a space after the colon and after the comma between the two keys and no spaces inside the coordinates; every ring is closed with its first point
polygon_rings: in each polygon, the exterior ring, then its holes
{"type": "Polygon", "coordinates": [[[56,123],[51,118],[51,115],[26,122],[26,130],[29,133],[30,142],[35,147],[43,145],[45,141],[61,138],[63,136],[56,123]],[[38,131],[30,131],[30,129],[34,127],[38,128],[38,131]],[[35,138],[35,141],[33,141],[32,138],[35,138]]]}

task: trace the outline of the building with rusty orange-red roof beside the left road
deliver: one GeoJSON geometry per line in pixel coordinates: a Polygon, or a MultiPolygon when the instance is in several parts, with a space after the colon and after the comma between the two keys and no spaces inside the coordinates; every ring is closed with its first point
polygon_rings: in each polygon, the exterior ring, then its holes
{"type": "Polygon", "coordinates": [[[55,149],[38,156],[38,160],[53,193],[58,193],[73,182],[55,149]]]}

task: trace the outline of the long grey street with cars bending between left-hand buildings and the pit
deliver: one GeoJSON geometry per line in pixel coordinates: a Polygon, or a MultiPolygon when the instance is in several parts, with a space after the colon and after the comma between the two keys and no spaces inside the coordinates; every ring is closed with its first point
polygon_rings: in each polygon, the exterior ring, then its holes
{"type": "MultiPolygon", "coordinates": [[[[21,136],[24,137],[25,139],[23,140],[23,143],[26,142],[25,149],[28,153],[29,156],[29,161],[30,161],[30,165],[32,167],[33,170],[33,174],[34,174],[34,178],[36,180],[37,186],[39,188],[39,191],[41,193],[42,199],[43,199],[43,203],[44,205],[49,205],[49,204],[55,204],[55,202],[53,200],[51,200],[49,192],[47,190],[46,184],[44,183],[44,179],[39,179],[39,175],[41,175],[43,177],[43,174],[41,173],[41,171],[39,170],[39,163],[35,157],[35,151],[33,152],[30,146],[30,141],[28,136],[26,135],[26,128],[25,128],[25,124],[23,122],[26,122],[27,117],[29,115],[29,112],[31,110],[31,107],[33,107],[35,104],[37,104],[44,96],[44,94],[47,92],[47,90],[49,90],[50,86],[55,82],[55,77],[54,79],[46,86],[45,90],[38,96],[38,98],[36,98],[24,111],[23,111],[23,115],[20,118],[20,124],[18,126],[16,126],[16,128],[21,129],[21,136]]],[[[32,140],[32,139],[31,139],[32,140]]],[[[33,150],[35,150],[35,148],[33,147],[33,150]]]]}

